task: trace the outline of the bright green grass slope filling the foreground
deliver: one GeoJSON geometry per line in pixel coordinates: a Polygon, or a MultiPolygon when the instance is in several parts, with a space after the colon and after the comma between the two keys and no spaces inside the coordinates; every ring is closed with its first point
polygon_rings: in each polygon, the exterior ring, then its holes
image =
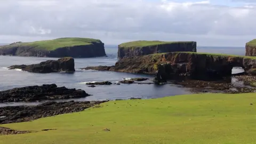
{"type": "Polygon", "coordinates": [[[179,95],[0,125],[38,131],[2,135],[0,143],[255,143],[255,121],[255,93],[179,95]]]}

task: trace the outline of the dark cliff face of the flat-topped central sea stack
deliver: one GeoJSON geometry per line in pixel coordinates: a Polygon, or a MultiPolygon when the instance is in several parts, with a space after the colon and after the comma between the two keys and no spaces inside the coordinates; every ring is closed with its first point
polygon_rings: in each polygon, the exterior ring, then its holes
{"type": "Polygon", "coordinates": [[[130,58],[139,55],[167,52],[196,52],[196,42],[166,43],[150,46],[122,46],[118,45],[118,58],[130,58]]]}

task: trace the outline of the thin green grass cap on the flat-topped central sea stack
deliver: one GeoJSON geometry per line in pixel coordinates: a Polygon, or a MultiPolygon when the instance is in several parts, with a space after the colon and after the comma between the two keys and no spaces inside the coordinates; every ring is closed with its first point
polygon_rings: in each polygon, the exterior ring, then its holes
{"type": "Polygon", "coordinates": [[[163,42],[163,41],[133,41],[122,43],[119,47],[144,47],[152,45],[161,45],[161,44],[171,44],[171,43],[190,43],[190,42],[163,42]]]}

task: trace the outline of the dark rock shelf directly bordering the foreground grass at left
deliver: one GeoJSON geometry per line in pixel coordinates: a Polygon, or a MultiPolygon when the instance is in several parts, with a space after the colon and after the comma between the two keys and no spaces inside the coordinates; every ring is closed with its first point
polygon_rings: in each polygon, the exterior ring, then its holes
{"type": "MultiPolygon", "coordinates": [[[[55,116],[66,113],[75,113],[84,109],[97,106],[107,101],[69,101],[69,102],[46,102],[38,106],[14,106],[0,107],[0,124],[29,122],[42,117],[55,116]]],[[[0,134],[1,134],[0,127],[0,134]]]]}

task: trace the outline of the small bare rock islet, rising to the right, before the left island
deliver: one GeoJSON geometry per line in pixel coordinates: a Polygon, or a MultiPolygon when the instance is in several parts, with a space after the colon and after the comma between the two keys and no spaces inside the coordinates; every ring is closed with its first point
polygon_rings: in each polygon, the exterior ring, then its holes
{"type": "Polygon", "coordinates": [[[47,60],[33,65],[14,65],[8,67],[8,69],[21,69],[31,73],[74,72],[75,62],[73,58],[65,57],[58,60],[47,60]]]}

